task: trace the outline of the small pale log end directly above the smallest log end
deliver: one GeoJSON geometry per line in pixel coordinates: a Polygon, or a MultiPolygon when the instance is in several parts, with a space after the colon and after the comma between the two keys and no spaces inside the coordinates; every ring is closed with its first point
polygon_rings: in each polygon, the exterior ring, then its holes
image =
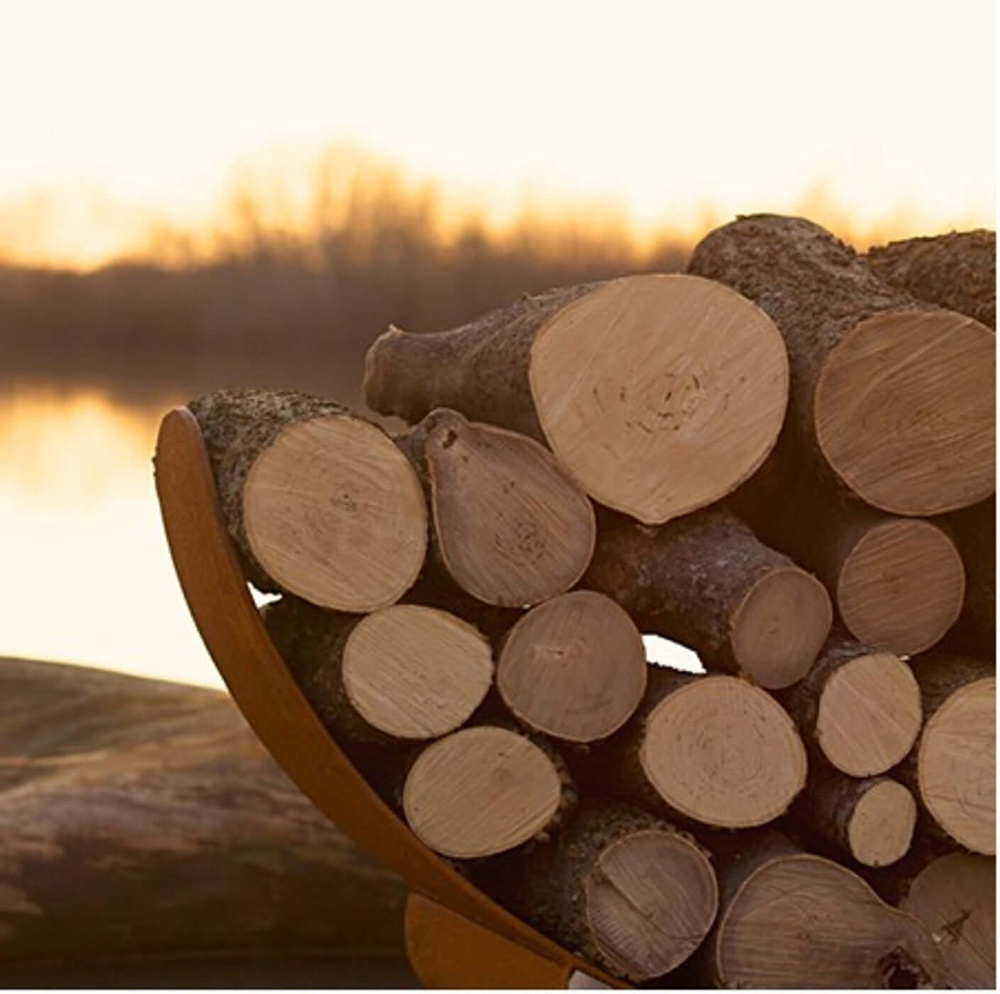
{"type": "Polygon", "coordinates": [[[839,666],[823,685],[816,739],[841,772],[874,776],[913,748],[922,715],[910,667],[891,653],[865,653],[839,666]]]}

